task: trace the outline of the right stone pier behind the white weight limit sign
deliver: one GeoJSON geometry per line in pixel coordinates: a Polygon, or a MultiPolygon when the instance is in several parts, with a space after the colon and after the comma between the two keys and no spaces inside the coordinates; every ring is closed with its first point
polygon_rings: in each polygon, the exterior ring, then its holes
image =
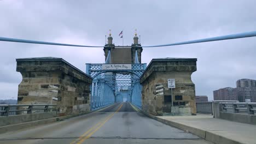
{"type": "Polygon", "coordinates": [[[141,76],[142,110],[153,115],[196,115],[195,85],[191,74],[196,71],[196,58],[152,59],[141,76]],[[167,80],[175,79],[173,104],[167,80]]]}

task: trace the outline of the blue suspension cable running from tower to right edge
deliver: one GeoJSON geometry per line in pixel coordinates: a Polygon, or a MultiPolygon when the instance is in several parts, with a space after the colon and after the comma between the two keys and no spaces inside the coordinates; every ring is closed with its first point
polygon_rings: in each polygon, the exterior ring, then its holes
{"type": "Polygon", "coordinates": [[[239,38],[248,38],[248,37],[256,37],[256,31],[246,32],[246,33],[238,33],[238,34],[230,34],[230,35],[223,35],[223,36],[219,36],[219,37],[212,37],[212,38],[206,38],[206,39],[183,41],[183,42],[173,43],[173,44],[153,45],[153,46],[143,46],[143,47],[161,47],[161,46],[185,45],[185,44],[194,44],[194,43],[203,43],[203,42],[209,42],[209,41],[239,39],[239,38]]]}

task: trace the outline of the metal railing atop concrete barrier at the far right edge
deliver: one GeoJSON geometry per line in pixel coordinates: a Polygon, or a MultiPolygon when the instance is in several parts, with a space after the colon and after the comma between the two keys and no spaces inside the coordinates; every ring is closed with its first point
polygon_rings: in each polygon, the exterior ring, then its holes
{"type": "Polygon", "coordinates": [[[219,106],[222,112],[254,115],[256,111],[256,103],[219,103],[219,106]]]}

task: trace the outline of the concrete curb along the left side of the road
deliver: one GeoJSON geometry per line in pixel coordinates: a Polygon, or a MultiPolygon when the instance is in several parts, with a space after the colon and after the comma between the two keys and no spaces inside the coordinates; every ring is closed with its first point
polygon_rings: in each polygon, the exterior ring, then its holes
{"type": "Polygon", "coordinates": [[[85,112],[81,112],[81,113],[77,113],[77,114],[73,114],[73,115],[53,117],[53,118],[47,118],[47,119],[40,119],[38,121],[31,121],[31,122],[25,122],[25,123],[5,125],[5,126],[0,127],[0,134],[7,133],[7,132],[10,132],[10,131],[20,130],[20,129],[25,129],[25,128],[31,128],[31,127],[35,127],[35,126],[38,126],[38,125],[53,123],[53,122],[57,122],[57,121],[62,121],[63,119],[68,119],[68,118],[72,118],[72,117],[85,115],[85,114],[88,114],[88,113],[97,112],[97,111],[100,111],[102,109],[106,109],[107,107],[112,106],[114,104],[102,107],[101,109],[98,109],[96,111],[85,111],[85,112]]]}

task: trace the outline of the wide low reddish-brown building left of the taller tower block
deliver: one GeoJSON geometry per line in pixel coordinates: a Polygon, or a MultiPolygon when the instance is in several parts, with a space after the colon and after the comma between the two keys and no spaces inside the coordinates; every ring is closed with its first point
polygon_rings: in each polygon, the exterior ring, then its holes
{"type": "Polygon", "coordinates": [[[237,100],[237,89],[225,87],[213,91],[213,100],[237,100]]]}

